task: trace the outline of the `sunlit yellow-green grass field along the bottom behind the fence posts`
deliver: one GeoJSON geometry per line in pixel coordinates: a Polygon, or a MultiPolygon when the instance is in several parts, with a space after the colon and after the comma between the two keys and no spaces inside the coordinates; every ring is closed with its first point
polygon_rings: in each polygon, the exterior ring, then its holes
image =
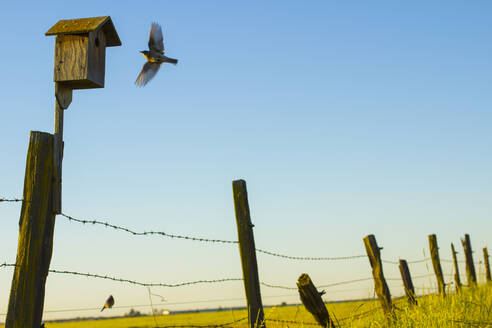
{"type": "MultiPolygon", "coordinates": [[[[492,327],[492,284],[465,289],[462,294],[442,298],[436,295],[421,297],[418,306],[405,299],[394,301],[395,319],[384,316],[378,301],[328,304],[330,315],[341,327],[492,327]]],[[[111,319],[67,323],[47,323],[46,328],[151,328],[164,326],[218,325],[245,318],[245,310],[208,313],[176,314],[153,317],[111,319]]],[[[316,327],[313,317],[303,306],[284,306],[265,309],[267,327],[316,327]]],[[[247,320],[226,325],[246,328],[247,320]]],[[[2,326],[3,327],[3,326],[2,326]]]]}

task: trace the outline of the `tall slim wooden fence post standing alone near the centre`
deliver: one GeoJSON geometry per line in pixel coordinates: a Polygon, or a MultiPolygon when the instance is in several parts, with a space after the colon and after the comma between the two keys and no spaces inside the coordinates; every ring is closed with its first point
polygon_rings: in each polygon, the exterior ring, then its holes
{"type": "Polygon", "coordinates": [[[233,181],[232,191],[234,195],[234,210],[236,212],[239,253],[243,267],[244,289],[248,301],[249,325],[251,328],[265,327],[246,181],[233,181]]]}

